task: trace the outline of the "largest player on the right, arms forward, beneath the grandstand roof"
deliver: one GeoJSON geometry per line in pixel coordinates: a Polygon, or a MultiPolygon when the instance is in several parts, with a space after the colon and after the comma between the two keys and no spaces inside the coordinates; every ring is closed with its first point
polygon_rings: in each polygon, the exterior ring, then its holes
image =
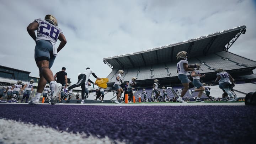
{"type": "Polygon", "coordinates": [[[197,65],[196,64],[192,66],[188,65],[188,61],[187,61],[188,54],[185,51],[178,52],[176,55],[176,58],[180,60],[177,63],[177,73],[178,73],[178,79],[181,81],[183,85],[183,90],[181,91],[180,97],[177,99],[177,101],[181,103],[187,103],[184,100],[182,100],[183,96],[188,91],[189,84],[190,84],[190,80],[187,77],[187,72],[197,69],[197,65]]]}

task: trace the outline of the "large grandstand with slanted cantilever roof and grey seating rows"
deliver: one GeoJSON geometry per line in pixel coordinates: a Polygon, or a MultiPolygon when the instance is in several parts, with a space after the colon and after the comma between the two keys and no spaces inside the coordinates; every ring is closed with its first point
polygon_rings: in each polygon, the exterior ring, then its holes
{"type": "Polygon", "coordinates": [[[154,80],[158,79],[160,87],[172,87],[172,92],[176,95],[174,90],[182,88],[176,72],[176,55],[180,51],[186,51],[189,54],[189,64],[201,64],[201,73],[206,74],[201,81],[208,86],[213,85],[217,77],[215,70],[223,68],[233,76],[236,84],[250,83],[249,87],[256,91],[256,74],[252,71],[256,68],[256,62],[228,51],[241,34],[245,33],[246,26],[243,25],[168,46],[103,58],[103,63],[112,69],[107,76],[107,89],[113,89],[117,71],[122,69],[124,82],[121,87],[124,87],[132,77],[136,77],[138,84],[135,90],[151,89],[154,80]]]}

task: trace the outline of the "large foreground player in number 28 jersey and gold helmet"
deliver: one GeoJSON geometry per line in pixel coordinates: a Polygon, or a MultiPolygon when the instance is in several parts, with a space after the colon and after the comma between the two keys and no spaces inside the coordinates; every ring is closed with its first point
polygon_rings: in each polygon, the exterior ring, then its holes
{"type": "Polygon", "coordinates": [[[54,105],[58,95],[62,89],[62,85],[57,83],[53,78],[53,73],[50,68],[53,65],[57,53],[65,46],[66,38],[60,28],[57,27],[57,19],[53,15],[46,15],[44,20],[36,19],[27,27],[28,34],[36,42],[34,58],[39,68],[40,80],[36,96],[32,98],[28,104],[36,105],[43,92],[44,86],[49,82],[52,90],[51,104],[54,105]],[[37,30],[37,36],[34,31],[37,30]],[[60,40],[59,47],[55,48],[55,43],[60,40]]]}

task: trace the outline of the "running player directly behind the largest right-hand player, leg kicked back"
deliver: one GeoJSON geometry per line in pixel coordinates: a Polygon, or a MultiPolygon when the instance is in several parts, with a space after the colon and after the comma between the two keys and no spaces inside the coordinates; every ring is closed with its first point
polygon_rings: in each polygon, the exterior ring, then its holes
{"type": "Polygon", "coordinates": [[[197,87],[197,89],[190,90],[190,93],[192,94],[193,92],[198,92],[196,102],[204,102],[204,101],[200,100],[200,98],[203,94],[203,91],[205,90],[203,84],[200,82],[200,78],[205,77],[205,75],[201,75],[198,71],[199,69],[201,69],[200,68],[201,65],[200,64],[196,64],[196,65],[197,65],[197,68],[195,70],[192,70],[191,76],[193,78],[193,84],[194,84],[194,86],[197,87]]]}

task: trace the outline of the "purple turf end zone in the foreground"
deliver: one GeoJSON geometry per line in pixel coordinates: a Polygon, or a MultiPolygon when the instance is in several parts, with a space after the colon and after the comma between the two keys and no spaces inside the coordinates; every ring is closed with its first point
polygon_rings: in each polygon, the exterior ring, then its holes
{"type": "Polygon", "coordinates": [[[126,143],[253,143],[253,106],[1,105],[0,118],[126,143]]]}

